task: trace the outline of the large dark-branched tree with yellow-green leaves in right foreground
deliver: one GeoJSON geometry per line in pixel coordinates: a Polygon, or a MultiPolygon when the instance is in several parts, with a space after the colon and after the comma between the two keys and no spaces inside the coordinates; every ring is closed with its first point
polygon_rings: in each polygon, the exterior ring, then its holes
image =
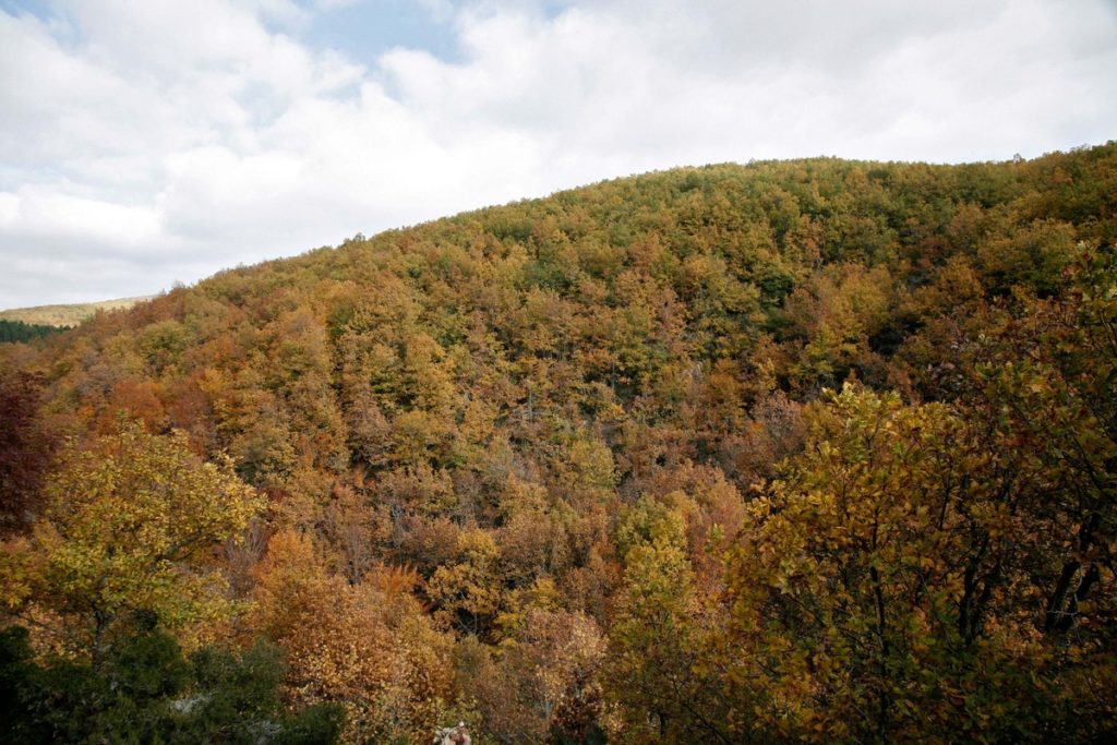
{"type": "MultiPolygon", "coordinates": [[[[1108,689],[1081,682],[1111,679],[1111,652],[1089,628],[1044,628],[1070,524],[1050,517],[1059,471],[1037,467],[1019,430],[1010,440],[968,413],[851,385],[808,407],[808,447],[750,503],[729,555],[738,738],[1050,743],[1111,729],[1108,689]]],[[[1075,610],[1092,625],[1106,600],[1088,601],[1075,610]]]]}

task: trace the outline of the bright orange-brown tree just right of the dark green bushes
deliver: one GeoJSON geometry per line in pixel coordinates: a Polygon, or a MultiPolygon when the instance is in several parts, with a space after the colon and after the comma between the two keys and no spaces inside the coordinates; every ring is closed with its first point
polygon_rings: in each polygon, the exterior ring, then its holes
{"type": "Polygon", "coordinates": [[[448,698],[449,663],[445,638],[402,594],[409,588],[327,575],[292,532],[269,541],[257,574],[249,627],[287,653],[288,703],[343,706],[346,742],[423,737],[448,698]]]}

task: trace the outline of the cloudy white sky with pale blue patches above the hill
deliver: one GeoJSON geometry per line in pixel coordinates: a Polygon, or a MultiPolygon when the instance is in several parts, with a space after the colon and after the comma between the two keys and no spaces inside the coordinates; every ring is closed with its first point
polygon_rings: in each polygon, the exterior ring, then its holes
{"type": "Polygon", "coordinates": [[[1117,0],[0,0],[0,308],[677,165],[1117,139],[1117,0]]]}

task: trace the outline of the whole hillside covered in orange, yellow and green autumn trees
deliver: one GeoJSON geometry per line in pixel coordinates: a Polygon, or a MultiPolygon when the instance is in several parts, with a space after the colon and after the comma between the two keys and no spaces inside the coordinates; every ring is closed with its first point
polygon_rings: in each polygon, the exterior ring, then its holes
{"type": "Polygon", "coordinates": [[[679,169],[225,271],[0,347],[7,606],[93,666],[137,610],[265,639],[353,742],[1104,739],[1115,238],[1109,143],[679,169]],[[264,499],[160,553],[187,461],[264,499]]]}

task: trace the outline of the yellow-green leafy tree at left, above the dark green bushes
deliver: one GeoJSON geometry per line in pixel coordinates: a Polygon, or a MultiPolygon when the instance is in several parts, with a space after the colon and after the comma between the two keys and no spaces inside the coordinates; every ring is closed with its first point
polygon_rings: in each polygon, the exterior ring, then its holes
{"type": "Polygon", "coordinates": [[[237,610],[214,550],[244,534],[262,497],[184,433],[122,422],[70,442],[45,495],[30,536],[0,554],[0,586],[7,613],[46,646],[96,663],[139,612],[190,644],[237,610]]]}

